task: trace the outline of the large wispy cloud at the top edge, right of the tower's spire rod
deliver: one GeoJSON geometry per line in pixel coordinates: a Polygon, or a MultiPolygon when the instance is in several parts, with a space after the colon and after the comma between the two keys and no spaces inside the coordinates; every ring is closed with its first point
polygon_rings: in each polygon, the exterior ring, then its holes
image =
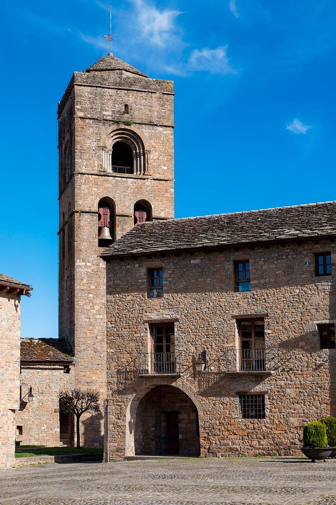
{"type": "Polygon", "coordinates": [[[172,39],[176,38],[175,20],[181,14],[180,11],[170,9],[160,11],[143,0],[133,0],[133,3],[138,11],[138,23],[144,37],[159,46],[171,43],[172,39]]]}

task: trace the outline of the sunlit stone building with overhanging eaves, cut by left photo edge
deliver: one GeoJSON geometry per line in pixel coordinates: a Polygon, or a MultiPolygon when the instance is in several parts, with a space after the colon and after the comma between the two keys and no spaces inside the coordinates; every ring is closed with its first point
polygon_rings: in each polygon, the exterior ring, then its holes
{"type": "Polygon", "coordinates": [[[0,274],[0,468],[15,466],[15,413],[20,407],[20,303],[32,287],[0,274]]]}

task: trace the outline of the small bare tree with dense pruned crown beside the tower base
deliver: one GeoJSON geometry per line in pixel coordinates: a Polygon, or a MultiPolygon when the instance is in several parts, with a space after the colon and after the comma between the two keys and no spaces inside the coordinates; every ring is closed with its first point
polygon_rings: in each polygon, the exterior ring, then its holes
{"type": "Polygon", "coordinates": [[[95,389],[81,389],[80,387],[64,389],[60,391],[60,409],[76,416],[77,447],[80,447],[80,417],[85,412],[100,412],[99,393],[95,389]]]}

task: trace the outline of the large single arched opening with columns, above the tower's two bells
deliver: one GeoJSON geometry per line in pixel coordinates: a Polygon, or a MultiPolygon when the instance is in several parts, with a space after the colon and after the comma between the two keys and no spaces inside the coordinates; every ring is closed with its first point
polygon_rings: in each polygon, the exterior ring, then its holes
{"type": "Polygon", "coordinates": [[[148,157],[140,136],[132,130],[120,129],[108,136],[108,148],[103,148],[102,165],[117,174],[145,174],[148,157]]]}

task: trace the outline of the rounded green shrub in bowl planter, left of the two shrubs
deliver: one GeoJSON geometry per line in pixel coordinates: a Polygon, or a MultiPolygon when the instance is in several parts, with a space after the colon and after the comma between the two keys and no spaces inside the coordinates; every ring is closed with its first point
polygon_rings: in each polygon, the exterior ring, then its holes
{"type": "Polygon", "coordinates": [[[306,424],[303,428],[303,448],[301,450],[307,458],[313,463],[319,460],[325,461],[332,452],[327,443],[325,424],[320,421],[306,424]]]}

